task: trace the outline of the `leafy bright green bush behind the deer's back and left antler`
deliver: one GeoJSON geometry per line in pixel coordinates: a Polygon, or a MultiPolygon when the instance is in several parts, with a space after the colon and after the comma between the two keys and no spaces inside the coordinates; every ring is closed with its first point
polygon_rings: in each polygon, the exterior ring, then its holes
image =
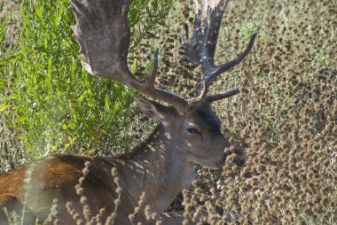
{"type": "MultiPolygon", "coordinates": [[[[173,1],[135,3],[129,20],[136,42],[130,49],[154,37],[153,30],[162,24],[173,1]]],[[[72,37],[70,26],[75,22],[69,4],[22,1],[17,50],[2,65],[3,116],[36,158],[68,151],[109,154],[132,141],[125,130],[136,113],[130,108],[134,92],[84,71],[72,37]],[[5,87],[8,82],[10,89],[5,87]]]]}

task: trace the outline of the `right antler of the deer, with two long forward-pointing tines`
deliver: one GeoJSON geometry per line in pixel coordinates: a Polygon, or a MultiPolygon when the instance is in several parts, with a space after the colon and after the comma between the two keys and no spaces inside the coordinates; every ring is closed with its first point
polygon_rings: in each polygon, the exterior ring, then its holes
{"type": "MultiPolygon", "coordinates": [[[[197,85],[197,96],[194,102],[213,102],[227,97],[232,97],[239,93],[239,88],[228,92],[207,96],[208,87],[215,81],[216,77],[223,72],[238,65],[252,50],[256,34],[252,35],[246,50],[241,52],[237,58],[221,65],[215,65],[216,43],[219,35],[223,12],[228,0],[197,0],[195,1],[195,19],[193,35],[188,43],[184,43],[184,59],[194,65],[200,65],[203,77],[197,85]]],[[[188,27],[186,36],[188,38],[188,27]]]]}

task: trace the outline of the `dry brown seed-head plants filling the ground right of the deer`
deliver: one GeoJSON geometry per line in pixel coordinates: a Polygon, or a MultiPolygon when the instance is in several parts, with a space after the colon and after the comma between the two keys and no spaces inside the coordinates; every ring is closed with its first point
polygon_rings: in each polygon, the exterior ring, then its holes
{"type": "MultiPolygon", "coordinates": [[[[172,12],[169,24],[176,27],[158,31],[156,41],[159,83],[187,94],[200,73],[179,61],[179,37],[184,21],[192,24],[191,7],[182,4],[184,13],[172,12]]],[[[198,168],[199,179],[183,193],[186,221],[207,211],[210,224],[230,217],[243,224],[337,223],[336,27],[336,1],[231,1],[218,61],[235,57],[253,32],[258,38],[247,59],[214,85],[219,90],[239,84],[243,91],[215,109],[246,163],[226,163],[218,173],[198,168]]],[[[137,54],[150,58],[149,50],[137,54]]],[[[136,135],[146,136],[141,131],[136,135]]]]}

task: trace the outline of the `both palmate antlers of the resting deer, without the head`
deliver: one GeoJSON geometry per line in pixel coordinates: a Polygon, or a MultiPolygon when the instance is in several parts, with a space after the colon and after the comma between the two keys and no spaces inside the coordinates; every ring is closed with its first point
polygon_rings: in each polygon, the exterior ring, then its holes
{"type": "Polygon", "coordinates": [[[252,49],[255,35],[252,36],[247,49],[238,58],[215,66],[214,55],[219,33],[224,0],[196,1],[194,32],[191,41],[184,43],[186,60],[202,66],[203,77],[197,87],[197,97],[186,99],[165,89],[154,87],[158,69],[158,51],[154,53],[153,68],[149,74],[139,80],[129,70],[127,64],[129,50],[129,27],[127,23],[129,4],[132,0],[71,0],[71,10],[77,20],[74,26],[74,37],[80,43],[82,64],[90,73],[119,81],[129,88],[137,89],[148,97],[153,97],[176,106],[184,112],[189,105],[203,101],[214,101],[239,93],[231,92],[208,96],[209,85],[216,76],[239,64],[252,49]]]}

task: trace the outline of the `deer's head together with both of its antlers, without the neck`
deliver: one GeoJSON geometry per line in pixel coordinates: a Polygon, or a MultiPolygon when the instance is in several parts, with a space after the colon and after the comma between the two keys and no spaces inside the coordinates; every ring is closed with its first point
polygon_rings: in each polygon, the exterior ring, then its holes
{"type": "Polygon", "coordinates": [[[147,116],[161,121],[169,138],[174,140],[186,159],[204,167],[221,167],[225,159],[223,150],[230,144],[222,135],[220,120],[211,111],[210,104],[238,94],[239,88],[216,95],[208,95],[208,89],[217,76],[238,65],[247,56],[253,47],[255,34],[237,58],[216,66],[216,43],[227,1],[195,1],[196,15],[189,41],[188,27],[185,27],[184,59],[201,66],[203,76],[196,87],[195,97],[187,99],[154,86],[158,50],[153,54],[153,68],[149,74],[130,72],[127,66],[127,14],[131,2],[84,0],[81,4],[72,0],[71,9],[77,20],[74,36],[81,45],[82,65],[90,74],[119,81],[146,97],[169,104],[162,105],[145,97],[135,98],[147,116]]]}

